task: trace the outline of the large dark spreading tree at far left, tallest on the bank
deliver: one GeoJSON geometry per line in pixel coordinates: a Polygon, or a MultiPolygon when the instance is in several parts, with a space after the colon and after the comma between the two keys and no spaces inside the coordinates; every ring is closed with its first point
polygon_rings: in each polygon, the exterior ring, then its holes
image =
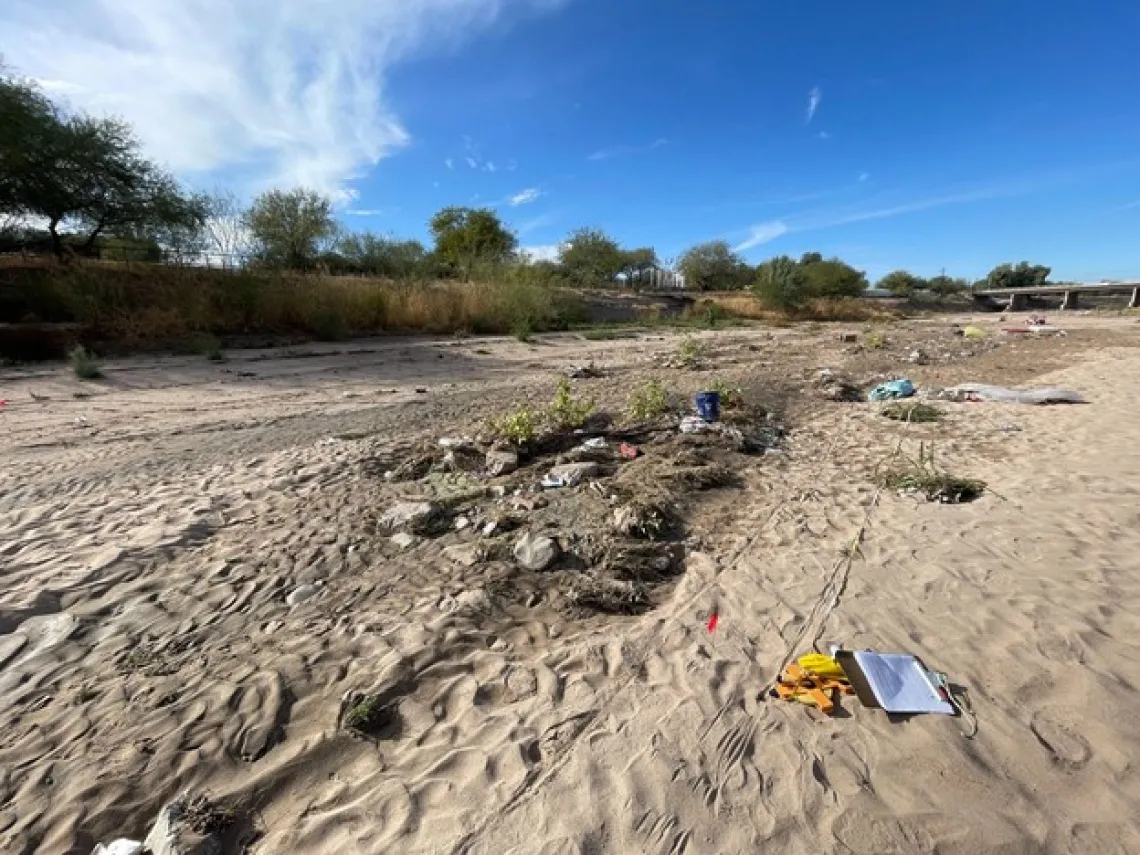
{"type": "Polygon", "coordinates": [[[0,213],[42,218],[62,256],[64,234],[92,250],[106,235],[187,246],[206,203],[142,156],[117,119],[66,115],[33,84],[0,75],[0,213]]]}

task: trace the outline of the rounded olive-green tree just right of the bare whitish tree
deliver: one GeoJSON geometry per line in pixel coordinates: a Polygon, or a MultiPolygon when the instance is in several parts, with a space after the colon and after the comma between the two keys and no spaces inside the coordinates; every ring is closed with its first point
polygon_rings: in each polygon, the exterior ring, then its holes
{"type": "Polygon", "coordinates": [[[316,190],[262,193],[245,212],[253,258],[261,264],[311,270],[336,236],[333,203],[316,190]]]}

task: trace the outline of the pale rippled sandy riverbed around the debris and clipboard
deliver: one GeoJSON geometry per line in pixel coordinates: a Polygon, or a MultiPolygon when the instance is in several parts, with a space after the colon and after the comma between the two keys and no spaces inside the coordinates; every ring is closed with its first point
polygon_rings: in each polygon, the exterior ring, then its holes
{"type": "Polygon", "coordinates": [[[97,383],[0,369],[0,850],[141,839],[189,788],[235,806],[251,853],[1140,852],[1140,327],[1065,320],[1024,341],[988,316],[967,350],[950,319],[891,325],[881,351],[840,342],[860,325],[703,333],[706,372],[660,367],[668,333],[138,358],[97,383]],[[508,563],[442,556],[477,536],[377,534],[416,490],[377,461],[591,360],[606,376],[576,385],[605,408],[646,376],[722,376],[789,426],[693,503],[657,608],[464,598],[508,563]],[[814,399],[823,367],[1090,404],[946,404],[904,427],[814,399]],[[991,490],[880,492],[876,465],[920,441],[991,490]],[[760,698],[813,637],[947,671],[977,736],[760,698]],[[342,700],[377,685],[399,687],[397,725],[350,735],[342,700]]]}

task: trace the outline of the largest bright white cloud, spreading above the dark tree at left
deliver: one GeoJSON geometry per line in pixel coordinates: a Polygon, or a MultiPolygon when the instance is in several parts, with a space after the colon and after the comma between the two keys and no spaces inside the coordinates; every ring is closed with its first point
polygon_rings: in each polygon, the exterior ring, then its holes
{"type": "Polygon", "coordinates": [[[520,8],[564,0],[5,0],[5,59],[137,130],[188,178],[334,193],[409,135],[385,79],[520,8]]]}

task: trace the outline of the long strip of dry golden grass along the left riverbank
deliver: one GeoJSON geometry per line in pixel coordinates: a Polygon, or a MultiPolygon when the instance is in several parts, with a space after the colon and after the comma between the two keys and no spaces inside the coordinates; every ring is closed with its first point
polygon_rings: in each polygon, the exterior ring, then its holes
{"type": "Polygon", "coordinates": [[[376,333],[563,328],[572,300],[507,271],[494,283],[31,260],[0,264],[0,321],[79,323],[116,349],[209,334],[340,340],[376,333]]]}

